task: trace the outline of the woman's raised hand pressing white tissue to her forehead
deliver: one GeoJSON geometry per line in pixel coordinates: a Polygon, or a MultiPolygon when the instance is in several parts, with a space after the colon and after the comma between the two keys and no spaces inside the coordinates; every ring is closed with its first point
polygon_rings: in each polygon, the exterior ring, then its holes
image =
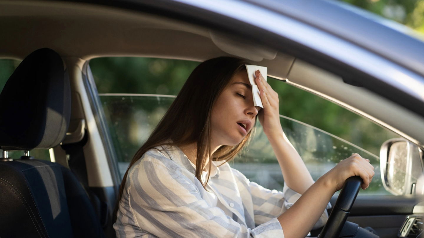
{"type": "Polygon", "coordinates": [[[259,111],[258,115],[259,122],[262,124],[264,133],[268,138],[273,135],[281,135],[283,130],[279,116],[278,94],[265,81],[259,70],[255,72],[255,76],[263,105],[263,109],[259,111]]]}

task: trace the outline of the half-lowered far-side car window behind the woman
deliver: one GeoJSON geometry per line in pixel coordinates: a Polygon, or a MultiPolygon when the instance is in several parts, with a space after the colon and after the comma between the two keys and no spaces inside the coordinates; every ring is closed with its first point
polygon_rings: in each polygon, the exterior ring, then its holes
{"type": "MultiPolygon", "coordinates": [[[[158,58],[95,58],[89,62],[121,178],[198,62],[158,58]]],[[[316,180],[353,153],[368,158],[376,175],[361,194],[389,194],[379,172],[379,149],[399,137],[314,94],[268,77],[280,97],[280,120],[290,142],[316,180]]],[[[248,146],[230,165],[251,181],[282,190],[284,180],[258,122],[248,146]]]]}

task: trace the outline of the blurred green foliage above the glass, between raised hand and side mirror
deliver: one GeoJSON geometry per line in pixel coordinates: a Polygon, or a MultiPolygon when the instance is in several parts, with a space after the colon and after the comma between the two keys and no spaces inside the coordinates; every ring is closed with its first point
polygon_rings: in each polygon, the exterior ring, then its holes
{"type": "MultiPolygon", "coordinates": [[[[281,115],[343,138],[374,155],[379,155],[380,146],[385,140],[399,137],[396,133],[310,92],[276,79],[269,79],[268,82],[279,94],[281,115]]],[[[288,127],[284,122],[282,126],[288,127]]]]}

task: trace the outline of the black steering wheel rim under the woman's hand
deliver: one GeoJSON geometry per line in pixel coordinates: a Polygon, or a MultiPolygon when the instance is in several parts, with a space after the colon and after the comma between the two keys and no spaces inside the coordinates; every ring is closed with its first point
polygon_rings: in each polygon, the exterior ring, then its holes
{"type": "Polygon", "coordinates": [[[346,180],[319,238],[339,237],[343,225],[349,216],[352,205],[355,202],[356,196],[358,195],[361,183],[362,179],[359,176],[349,177],[346,180]]]}

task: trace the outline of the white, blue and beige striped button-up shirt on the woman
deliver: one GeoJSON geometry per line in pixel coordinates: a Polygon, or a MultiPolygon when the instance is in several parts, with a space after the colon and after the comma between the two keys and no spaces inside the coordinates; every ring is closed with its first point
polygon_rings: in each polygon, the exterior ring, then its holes
{"type": "MultiPolygon", "coordinates": [[[[263,188],[222,163],[212,162],[205,190],[178,147],[146,152],[128,171],[113,225],[117,237],[283,238],[276,217],[301,194],[287,185],[282,192],[263,188]]],[[[324,211],[314,228],[327,218],[324,211]]]]}

